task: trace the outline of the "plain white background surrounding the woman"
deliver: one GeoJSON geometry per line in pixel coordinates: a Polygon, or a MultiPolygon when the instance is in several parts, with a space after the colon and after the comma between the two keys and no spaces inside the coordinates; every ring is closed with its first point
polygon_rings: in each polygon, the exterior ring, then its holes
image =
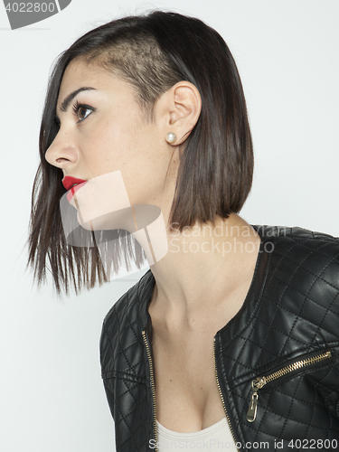
{"type": "Polygon", "coordinates": [[[1,2],[4,452],[115,450],[99,334],[110,306],[141,273],[61,302],[51,284],[40,291],[32,286],[24,244],[52,61],[89,29],[151,8],[202,19],[221,33],[237,61],[256,155],[253,188],[240,215],[251,224],[339,236],[337,0],[72,0],[61,14],[16,31],[1,2]]]}

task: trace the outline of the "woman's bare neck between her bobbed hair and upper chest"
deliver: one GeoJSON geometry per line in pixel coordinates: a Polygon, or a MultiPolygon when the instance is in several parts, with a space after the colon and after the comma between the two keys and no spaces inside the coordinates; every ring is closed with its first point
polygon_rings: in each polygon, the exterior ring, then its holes
{"type": "Polygon", "coordinates": [[[221,303],[230,304],[249,285],[260,238],[239,215],[180,233],[167,231],[167,240],[165,257],[151,266],[155,290],[150,304],[167,318],[189,321],[221,303]]]}

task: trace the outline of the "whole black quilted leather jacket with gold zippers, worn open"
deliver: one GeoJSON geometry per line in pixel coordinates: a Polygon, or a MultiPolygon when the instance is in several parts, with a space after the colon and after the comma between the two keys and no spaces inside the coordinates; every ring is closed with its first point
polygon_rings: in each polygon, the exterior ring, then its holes
{"type": "MultiPolygon", "coordinates": [[[[339,451],[339,239],[252,227],[261,244],[248,295],[214,337],[216,384],[237,449],[339,451]]],[[[102,327],[100,363],[118,452],[156,450],[147,311],[154,285],[149,270],[102,327]]]]}

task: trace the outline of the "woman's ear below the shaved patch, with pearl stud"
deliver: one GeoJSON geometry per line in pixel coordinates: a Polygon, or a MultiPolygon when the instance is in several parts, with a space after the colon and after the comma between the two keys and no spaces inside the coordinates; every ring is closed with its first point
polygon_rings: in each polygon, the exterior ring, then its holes
{"type": "Polygon", "coordinates": [[[164,93],[161,104],[164,137],[173,132],[176,140],[171,145],[181,145],[199,119],[202,110],[200,92],[190,81],[178,81],[164,93]]]}

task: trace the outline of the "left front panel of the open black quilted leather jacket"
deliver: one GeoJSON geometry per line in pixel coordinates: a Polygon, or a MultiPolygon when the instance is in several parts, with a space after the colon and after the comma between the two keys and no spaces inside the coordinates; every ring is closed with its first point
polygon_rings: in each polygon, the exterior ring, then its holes
{"type": "Polygon", "coordinates": [[[153,436],[152,392],[141,327],[147,315],[139,313],[140,287],[145,290],[143,278],[110,309],[100,337],[101,375],[115,420],[118,452],[145,452],[153,436]]]}

